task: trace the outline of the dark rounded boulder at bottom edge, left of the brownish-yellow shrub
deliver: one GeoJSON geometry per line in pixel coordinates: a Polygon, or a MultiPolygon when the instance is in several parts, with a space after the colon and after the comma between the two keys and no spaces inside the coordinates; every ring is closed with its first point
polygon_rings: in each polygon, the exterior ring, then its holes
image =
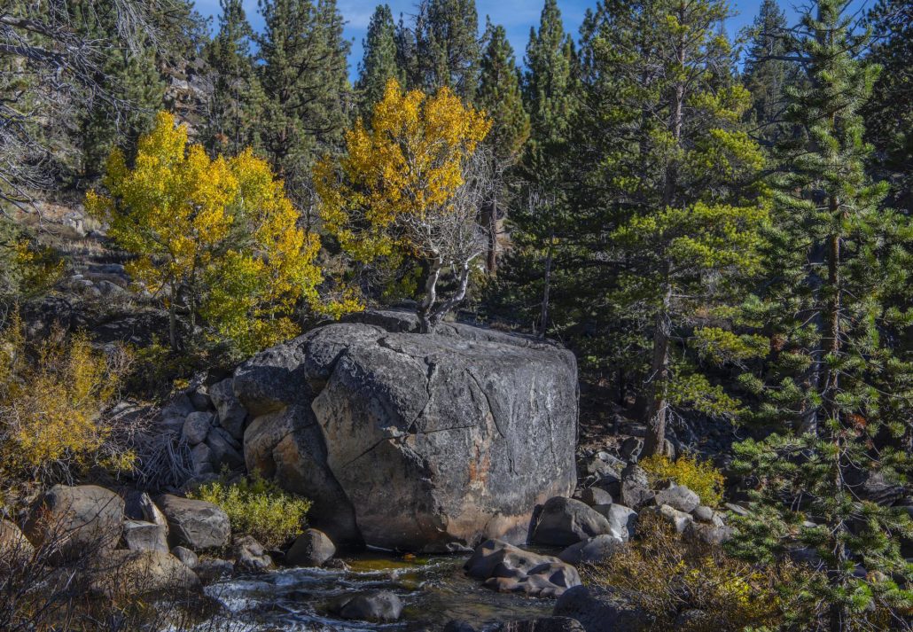
{"type": "Polygon", "coordinates": [[[576,586],[558,598],[552,615],[576,619],[586,632],[645,632],[654,620],[636,601],[621,590],[576,586]]]}

